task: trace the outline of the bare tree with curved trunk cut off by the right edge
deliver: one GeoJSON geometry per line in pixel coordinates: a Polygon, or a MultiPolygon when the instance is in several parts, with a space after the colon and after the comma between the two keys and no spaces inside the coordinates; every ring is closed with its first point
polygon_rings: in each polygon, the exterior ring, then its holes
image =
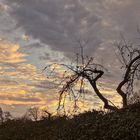
{"type": "Polygon", "coordinates": [[[140,80],[140,48],[127,43],[125,39],[116,46],[119,51],[118,58],[124,68],[124,77],[117,87],[117,92],[121,95],[125,107],[128,104],[128,97],[134,93],[134,80],[140,80]]]}

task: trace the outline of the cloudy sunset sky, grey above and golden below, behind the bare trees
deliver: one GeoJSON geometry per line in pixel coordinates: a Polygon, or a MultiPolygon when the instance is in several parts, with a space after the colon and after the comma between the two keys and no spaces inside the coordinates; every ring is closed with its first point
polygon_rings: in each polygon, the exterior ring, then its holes
{"type": "MultiPolygon", "coordinates": [[[[85,55],[109,69],[101,90],[118,105],[114,42],[123,34],[139,43],[139,13],[140,0],[0,0],[0,106],[15,116],[31,106],[54,112],[58,92],[42,69],[72,61],[77,40],[89,40],[85,55]]],[[[94,92],[85,98],[83,110],[100,106],[94,92]]]]}

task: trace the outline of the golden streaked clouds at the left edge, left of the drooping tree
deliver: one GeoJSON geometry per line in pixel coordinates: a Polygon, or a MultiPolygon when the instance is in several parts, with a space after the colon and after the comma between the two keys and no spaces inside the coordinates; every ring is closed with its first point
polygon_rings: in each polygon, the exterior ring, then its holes
{"type": "Polygon", "coordinates": [[[19,50],[17,44],[0,41],[0,106],[45,105],[49,99],[36,85],[47,79],[19,50]]]}

